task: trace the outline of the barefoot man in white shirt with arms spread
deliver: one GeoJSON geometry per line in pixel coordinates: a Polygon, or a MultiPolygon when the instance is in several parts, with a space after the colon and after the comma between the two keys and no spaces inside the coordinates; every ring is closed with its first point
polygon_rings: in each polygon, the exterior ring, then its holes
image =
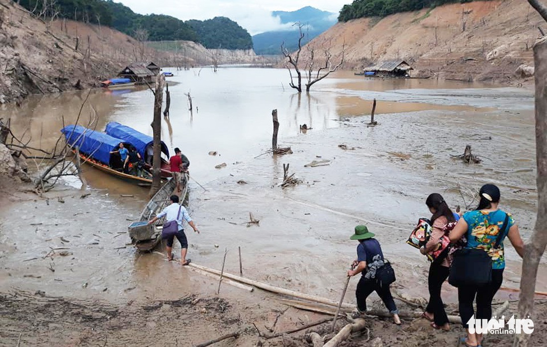
{"type": "Polygon", "coordinates": [[[166,208],[164,208],[160,213],[158,213],[157,216],[155,216],[153,219],[148,221],[148,224],[154,223],[156,220],[160,219],[161,217],[165,216],[165,221],[177,221],[178,224],[178,233],[174,236],[167,237],[167,260],[173,260],[173,240],[174,237],[177,237],[177,240],[179,243],[181,243],[181,264],[188,265],[190,263],[190,258],[186,258],[186,253],[188,251],[188,240],[186,238],[186,234],[184,234],[184,228],[182,226],[182,220],[185,220],[188,222],[188,225],[191,226],[194,229],[194,232],[200,233],[199,230],[197,230],[196,225],[190,218],[190,215],[188,214],[188,211],[183,205],[179,205],[178,201],[179,198],[177,195],[172,195],[169,198],[172,202],[171,205],[168,205],[166,208]],[[179,213],[179,208],[181,213],[179,213]],[[178,216],[178,218],[177,218],[178,216]]]}

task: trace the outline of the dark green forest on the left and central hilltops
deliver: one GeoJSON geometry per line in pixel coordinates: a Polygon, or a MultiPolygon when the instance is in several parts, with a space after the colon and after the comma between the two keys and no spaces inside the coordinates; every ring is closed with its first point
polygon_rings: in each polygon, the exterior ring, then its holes
{"type": "Polygon", "coordinates": [[[167,15],[137,14],[112,0],[21,0],[20,4],[35,15],[109,26],[142,40],[189,40],[205,48],[253,48],[251,35],[226,17],[184,22],[167,15]]]}

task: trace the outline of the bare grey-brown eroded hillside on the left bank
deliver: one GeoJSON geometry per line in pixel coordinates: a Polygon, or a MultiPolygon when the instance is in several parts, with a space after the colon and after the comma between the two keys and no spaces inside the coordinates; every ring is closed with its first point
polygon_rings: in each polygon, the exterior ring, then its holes
{"type": "Polygon", "coordinates": [[[113,64],[53,30],[8,0],[0,0],[0,103],[30,93],[89,87],[108,76],[113,64]]]}

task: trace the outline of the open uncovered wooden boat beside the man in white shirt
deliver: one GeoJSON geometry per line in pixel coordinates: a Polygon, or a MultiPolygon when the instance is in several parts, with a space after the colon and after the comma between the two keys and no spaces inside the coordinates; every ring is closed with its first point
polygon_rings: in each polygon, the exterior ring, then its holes
{"type": "MultiPolygon", "coordinates": [[[[188,178],[187,173],[182,174],[182,192],[176,193],[179,195],[179,203],[184,206],[188,205],[188,178]]],[[[175,194],[176,187],[175,180],[168,180],[143,208],[139,220],[129,225],[131,243],[139,251],[151,251],[161,242],[161,226],[165,223],[165,217],[160,218],[154,225],[148,225],[147,222],[171,204],[169,197],[175,194]]]]}

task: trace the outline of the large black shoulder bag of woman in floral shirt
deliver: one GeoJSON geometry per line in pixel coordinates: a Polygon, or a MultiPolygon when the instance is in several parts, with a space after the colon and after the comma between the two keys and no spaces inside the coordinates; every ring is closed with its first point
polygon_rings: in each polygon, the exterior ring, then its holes
{"type": "MultiPolygon", "coordinates": [[[[499,231],[494,248],[498,248],[505,228],[509,221],[509,215],[505,214],[505,221],[499,231]]],[[[492,257],[488,252],[477,248],[463,248],[453,253],[448,282],[455,287],[484,286],[492,281],[492,257]]]]}

